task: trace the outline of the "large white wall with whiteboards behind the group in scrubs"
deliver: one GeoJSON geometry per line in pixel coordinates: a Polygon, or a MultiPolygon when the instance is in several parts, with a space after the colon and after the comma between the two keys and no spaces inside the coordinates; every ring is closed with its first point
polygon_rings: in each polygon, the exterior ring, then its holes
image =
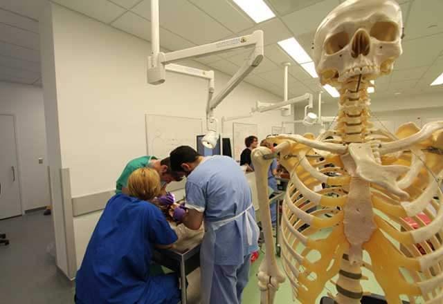
{"type": "MultiPolygon", "coordinates": [[[[73,197],[114,189],[126,162],[146,153],[145,114],[204,119],[207,83],[168,73],[165,84],[147,84],[147,41],[56,4],[51,6],[54,47],[44,53],[54,58],[55,71],[51,74],[56,79],[51,79],[51,90],[56,94],[48,94],[48,99],[56,97],[55,104],[51,102],[56,110],[47,123],[53,120],[53,126],[59,125],[61,166],[70,170],[73,197]]],[[[227,75],[216,73],[216,93],[227,81],[227,75]]],[[[44,85],[46,88],[45,79],[44,85]]],[[[280,98],[243,83],[215,114],[219,120],[246,114],[257,99],[280,98]]],[[[242,120],[258,124],[259,137],[271,133],[271,126],[279,126],[281,121],[278,111],[242,120]]],[[[224,131],[232,133],[232,122],[224,131]]],[[[51,136],[53,140],[56,137],[51,136]]],[[[56,150],[54,146],[51,151],[56,150]]],[[[74,218],[78,265],[98,215],[74,218]]]]}

